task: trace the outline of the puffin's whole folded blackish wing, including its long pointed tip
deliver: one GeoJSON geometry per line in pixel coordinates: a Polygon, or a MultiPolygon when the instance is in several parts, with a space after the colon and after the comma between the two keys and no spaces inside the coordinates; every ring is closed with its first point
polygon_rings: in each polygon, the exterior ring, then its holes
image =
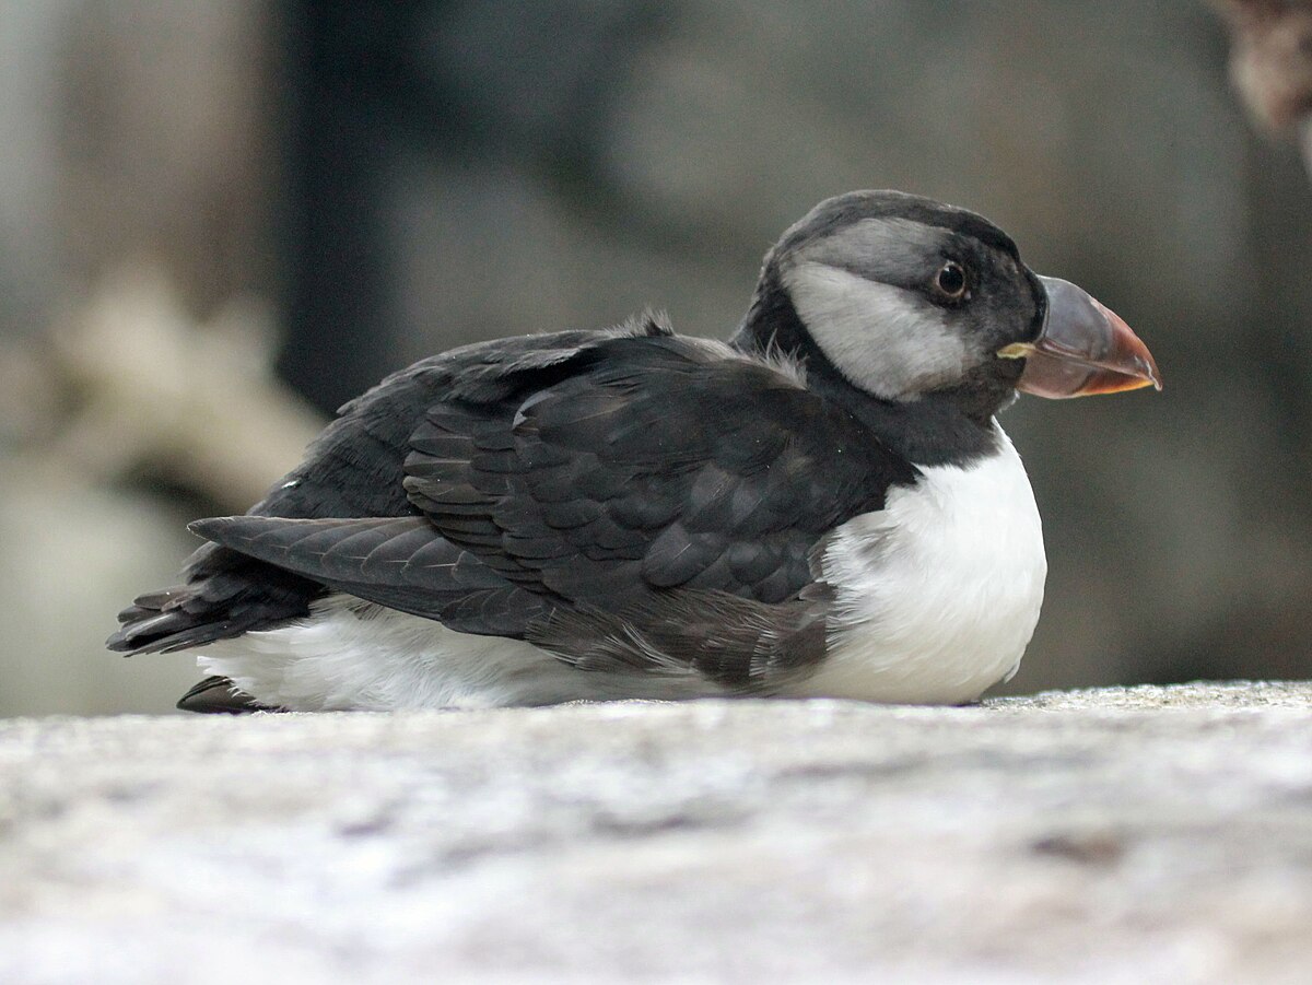
{"type": "Polygon", "coordinates": [[[422,518],[404,529],[230,518],[199,530],[583,666],[694,666],[745,686],[765,665],[804,661],[798,647],[823,653],[812,548],[914,479],[790,372],[672,337],[607,340],[522,399],[437,401],[411,447],[404,488],[422,518]],[[450,581],[457,555],[497,580],[466,593],[472,606],[450,581]]]}

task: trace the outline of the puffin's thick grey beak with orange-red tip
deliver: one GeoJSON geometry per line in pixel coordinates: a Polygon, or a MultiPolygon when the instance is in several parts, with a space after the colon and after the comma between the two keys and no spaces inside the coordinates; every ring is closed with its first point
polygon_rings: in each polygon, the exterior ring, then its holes
{"type": "Polygon", "coordinates": [[[1120,316],[1069,281],[1039,281],[1048,295],[1043,331],[1033,342],[1013,342],[997,353],[1025,359],[1019,391],[1056,399],[1147,386],[1161,390],[1152,353],[1120,316]]]}

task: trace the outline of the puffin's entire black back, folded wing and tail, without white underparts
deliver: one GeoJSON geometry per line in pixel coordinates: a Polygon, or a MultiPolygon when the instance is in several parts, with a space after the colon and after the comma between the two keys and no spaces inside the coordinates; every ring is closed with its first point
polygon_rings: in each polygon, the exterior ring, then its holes
{"type": "Polygon", "coordinates": [[[914,475],[791,376],[659,327],[457,350],[345,413],[255,515],[193,525],[251,560],[143,597],[125,648],[228,632],[253,572],[289,580],[255,628],[332,589],[580,668],[757,686],[823,653],[817,539],[914,475]]]}

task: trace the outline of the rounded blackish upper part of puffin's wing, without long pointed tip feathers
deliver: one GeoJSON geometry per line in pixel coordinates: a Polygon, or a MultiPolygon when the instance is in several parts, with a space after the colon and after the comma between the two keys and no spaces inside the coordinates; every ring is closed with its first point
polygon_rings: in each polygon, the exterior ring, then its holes
{"type": "Polygon", "coordinates": [[[912,481],[791,374],[715,344],[617,340],[513,414],[441,403],[405,491],[508,581],[615,609],[698,589],[783,602],[827,531],[912,481]]]}

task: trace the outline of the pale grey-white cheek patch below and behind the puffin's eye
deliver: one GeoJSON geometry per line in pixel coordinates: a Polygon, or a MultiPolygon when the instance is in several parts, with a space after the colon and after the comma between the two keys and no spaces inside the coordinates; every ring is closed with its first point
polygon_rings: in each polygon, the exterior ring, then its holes
{"type": "Polygon", "coordinates": [[[802,262],[783,283],[811,337],[850,383],[886,400],[914,400],[970,366],[966,340],[916,294],[828,264],[802,262]]]}

